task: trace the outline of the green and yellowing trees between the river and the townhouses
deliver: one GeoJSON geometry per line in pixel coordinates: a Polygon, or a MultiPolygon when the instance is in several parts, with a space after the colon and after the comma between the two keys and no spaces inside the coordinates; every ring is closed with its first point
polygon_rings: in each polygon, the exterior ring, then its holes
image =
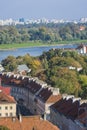
{"type": "Polygon", "coordinates": [[[76,51],[51,49],[39,57],[8,56],[1,64],[6,71],[16,72],[17,66],[26,64],[31,72],[61,93],[74,94],[87,99],[87,56],[76,51]],[[70,69],[71,67],[71,69],[70,69]]]}

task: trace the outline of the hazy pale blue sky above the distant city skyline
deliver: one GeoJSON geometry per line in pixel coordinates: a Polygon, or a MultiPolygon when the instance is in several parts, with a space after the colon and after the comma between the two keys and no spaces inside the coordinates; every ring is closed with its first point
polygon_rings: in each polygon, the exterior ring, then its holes
{"type": "Polygon", "coordinates": [[[0,19],[68,19],[87,17],[87,0],[0,0],[0,19]]]}

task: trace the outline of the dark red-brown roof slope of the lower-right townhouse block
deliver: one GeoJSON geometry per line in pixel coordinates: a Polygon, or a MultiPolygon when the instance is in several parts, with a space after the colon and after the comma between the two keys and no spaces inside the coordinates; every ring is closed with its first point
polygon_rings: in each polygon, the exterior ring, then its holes
{"type": "Polygon", "coordinates": [[[53,104],[51,108],[74,120],[78,116],[79,101],[73,102],[71,98],[68,100],[62,98],[53,104]]]}

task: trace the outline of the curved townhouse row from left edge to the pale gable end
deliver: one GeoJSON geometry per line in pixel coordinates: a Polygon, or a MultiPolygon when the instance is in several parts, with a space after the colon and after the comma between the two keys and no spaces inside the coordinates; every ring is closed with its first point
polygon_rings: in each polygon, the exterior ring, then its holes
{"type": "Polygon", "coordinates": [[[11,85],[11,95],[32,114],[50,119],[50,106],[61,98],[58,88],[52,88],[38,78],[11,73],[2,74],[2,83],[11,85]]]}

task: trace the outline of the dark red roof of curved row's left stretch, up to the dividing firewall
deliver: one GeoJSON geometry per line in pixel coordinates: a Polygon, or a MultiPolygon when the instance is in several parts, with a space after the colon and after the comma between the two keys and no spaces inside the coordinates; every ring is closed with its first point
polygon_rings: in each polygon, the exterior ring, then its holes
{"type": "Polygon", "coordinates": [[[2,82],[7,85],[16,85],[17,87],[27,87],[29,88],[29,91],[33,94],[35,94],[42,86],[38,83],[36,83],[33,80],[29,81],[29,78],[25,77],[22,79],[21,76],[19,77],[8,77],[7,75],[1,76],[2,82]]]}

